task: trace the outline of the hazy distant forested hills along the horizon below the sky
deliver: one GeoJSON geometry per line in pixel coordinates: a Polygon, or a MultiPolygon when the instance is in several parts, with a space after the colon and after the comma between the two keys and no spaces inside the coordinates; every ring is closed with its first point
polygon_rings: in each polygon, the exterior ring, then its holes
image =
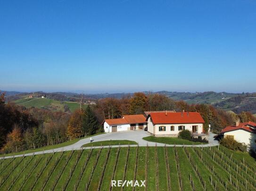
{"type": "MultiPolygon", "coordinates": [[[[0,91],[3,92],[3,91],[0,91]]],[[[256,114],[256,93],[228,93],[228,92],[143,92],[149,94],[162,94],[173,100],[183,100],[189,104],[211,104],[217,108],[232,110],[235,113],[249,111],[256,114]]],[[[6,101],[16,101],[27,98],[29,95],[38,98],[45,96],[57,101],[79,102],[81,94],[74,92],[6,92],[6,101]]],[[[133,93],[97,93],[84,94],[83,99],[96,101],[104,98],[131,98],[133,93]]]]}

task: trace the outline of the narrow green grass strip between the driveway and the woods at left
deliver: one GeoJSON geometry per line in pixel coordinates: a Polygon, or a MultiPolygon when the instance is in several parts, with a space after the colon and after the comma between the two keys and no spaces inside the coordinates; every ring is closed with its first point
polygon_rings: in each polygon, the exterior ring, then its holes
{"type": "MultiPolygon", "coordinates": [[[[94,135],[87,136],[86,138],[90,138],[90,137],[93,137],[93,136],[96,136],[96,135],[100,135],[100,134],[104,134],[104,133],[96,133],[94,135]]],[[[30,149],[30,150],[26,150],[26,151],[22,151],[22,152],[17,152],[17,153],[1,154],[0,157],[12,156],[12,155],[18,155],[18,154],[24,154],[24,153],[25,154],[26,153],[35,153],[35,152],[39,152],[39,151],[46,151],[46,150],[50,150],[50,149],[56,149],[56,148],[63,147],[63,146],[73,145],[74,143],[76,143],[77,141],[79,141],[79,140],[81,140],[83,138],[76,138],[74,140],[66,141],[64,143],[60,143],[60,144],[56,144],[56,145],[43,146],[43,147],[40,147],[40,148],[30,149]]]]}

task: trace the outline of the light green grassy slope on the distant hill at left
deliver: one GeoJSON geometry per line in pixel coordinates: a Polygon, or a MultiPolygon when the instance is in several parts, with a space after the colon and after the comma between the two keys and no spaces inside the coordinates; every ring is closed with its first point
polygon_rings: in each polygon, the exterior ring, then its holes
{"type": "MultiPolygon", "coordinates": [[[[23,98],[23,99],[17,99],[15,101],[17,105],[22,105],[27,108],[30,107],[37,107],[37,108],[44,108],[44,109],[50,109],[53,111],[64,111],[64,106],[67,105],[70,112],[74,112],[76,109],[80,108],[79,102],[61,102],[54,99],[48,99],[48,98],[23,98]]],[[[86,108],[87,105],[83,105],[83,108],[86,108]]]]}

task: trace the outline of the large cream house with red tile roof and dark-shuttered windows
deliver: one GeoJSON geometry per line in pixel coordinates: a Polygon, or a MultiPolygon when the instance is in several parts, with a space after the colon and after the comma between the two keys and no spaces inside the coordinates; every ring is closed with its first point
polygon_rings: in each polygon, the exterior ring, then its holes
{"type": "Polygon", "coordinates": [[[148,132],[156,137],[177,137],[181,130],[190,130],[195,137],[205,137],[204,120],[197,112],[152,112],[147,117],[148,132]]]}

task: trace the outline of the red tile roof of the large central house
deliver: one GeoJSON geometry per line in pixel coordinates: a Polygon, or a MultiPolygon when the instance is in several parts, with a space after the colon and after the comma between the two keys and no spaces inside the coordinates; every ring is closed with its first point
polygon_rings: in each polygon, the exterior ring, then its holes
{"type": "MultiPolygon", "coordinates": [[[[154,124],[186,124],[204,123],[202,116],[198,112],[176,112],[176,113],[150,113],[154,124]]],[[[148,116],[148,117],[149,117],[148,116]]]]}

